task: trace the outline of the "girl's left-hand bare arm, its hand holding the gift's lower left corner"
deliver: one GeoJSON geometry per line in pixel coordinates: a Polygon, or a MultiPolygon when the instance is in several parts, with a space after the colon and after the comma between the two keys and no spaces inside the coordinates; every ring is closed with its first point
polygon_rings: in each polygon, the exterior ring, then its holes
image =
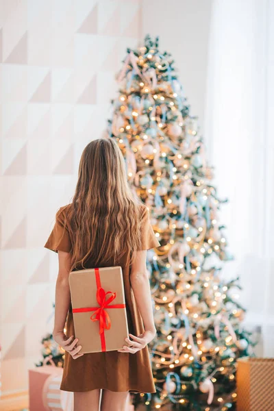
{"type": "Polygon", "coordinates": [[[64,334],[66,316],[71,303],[71,292],[69,289],[69,271],[71,267],[71,255],[65,251],[58,251],[59,271],[55,286],[55,317],[53,338],[64,350],[69,351],[71,356],[76,359],[84,354],[78,354],[82,348],[77,346],[78,339],[74,336],[69,338],[64,334]]]}

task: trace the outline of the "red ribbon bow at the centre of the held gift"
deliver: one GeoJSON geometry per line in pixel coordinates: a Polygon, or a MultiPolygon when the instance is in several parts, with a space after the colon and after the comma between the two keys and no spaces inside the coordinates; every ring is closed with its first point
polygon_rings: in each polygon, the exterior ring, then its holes
{"type": "MultiPolygon", "coordinates": [[[[110,329],[110,316],[108,315],[108,312],[105,311],[105,308],[110,308],[108,307],[108,304],[111,303],[115,298],[116,298],[116,292],[105,292],[105,290],[102,287],[97,288],[97,293],[96,293],[96,298],[99,303],[99,308],[90,316],[90,320],[92,321],[100,321],[100,329],[99,333],[103,333],[103,329],[110,329]],[[107,295],[110,294],[110,297],[108,299],[106,298],[107,295]]],[[[114,308],[112,306],[112,308],[114,308]]]]}

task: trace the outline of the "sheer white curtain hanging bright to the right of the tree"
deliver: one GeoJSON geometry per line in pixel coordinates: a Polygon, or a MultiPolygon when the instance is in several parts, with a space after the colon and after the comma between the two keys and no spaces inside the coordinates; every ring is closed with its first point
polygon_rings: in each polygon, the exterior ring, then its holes
{"type": "Polygon", "coordinates": [[[236,260],[246,323],[262,325],[274,356],[274,0],[215,0],[205,138],[236,260]]]}

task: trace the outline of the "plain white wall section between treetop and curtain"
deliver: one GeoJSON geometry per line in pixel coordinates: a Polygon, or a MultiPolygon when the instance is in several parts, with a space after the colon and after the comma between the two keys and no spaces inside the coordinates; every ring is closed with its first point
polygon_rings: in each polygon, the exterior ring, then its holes
{"type": "Polygon", "coordinates": [[[142,0],[143,36],[160,36],[175,59],[179,80],[203,132],[212,0],[142,0]]]}

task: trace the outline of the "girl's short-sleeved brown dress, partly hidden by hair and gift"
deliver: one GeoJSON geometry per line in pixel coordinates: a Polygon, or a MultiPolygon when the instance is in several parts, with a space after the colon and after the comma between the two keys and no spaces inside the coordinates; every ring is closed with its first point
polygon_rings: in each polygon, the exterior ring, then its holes
{"type": "MultiPolygon", "coordinates": [[[[56,253],[58,250],[71,251],[69,231],[64,228],[64,213],[69,206],[60,208],[56,213],[55,225],[44,246],[56,253]]],[[[149,211],[146,208],[142,215],[142,249],[147,250],[159,246],[160,242],[153,232],[149,221],[149,211]]],[[[129,333],[138,336],[144,332],[144,327],[130,286],[131,267],[123,264],[123,261],[116,265],[121,265],[123,271],[129,333]]],[[[66,334],[75,336],[71,306],[66,322],[66,334]]],[[[60,389],[79,392],[96,388],[131,393],[155,393],[148,347],[134,354],[119,351],[87,353],[76,360],[73,360],[66,351],[60,389]]]]}

